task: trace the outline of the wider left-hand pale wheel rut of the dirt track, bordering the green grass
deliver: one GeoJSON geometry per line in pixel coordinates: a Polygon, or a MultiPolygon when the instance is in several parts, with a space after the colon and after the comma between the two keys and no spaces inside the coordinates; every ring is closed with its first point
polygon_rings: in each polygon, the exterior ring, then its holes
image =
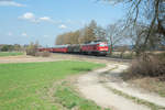
{"type": "MultiPolygon", "coordinates": [[[[87,99],[94,100],[97,105],[105,108],[112,108],[113,110],[150,110],[147,107],[136,105],[131,100],[113,94],[99,81],[99,75],[101,73],[114,69],[117,66],[116,64],[109,65],[106,68],[80,76],[77,84],[79,91],[87,99]]],[[[125,69],[124,66],[123,69],[125,69]]],[[[116,70],[120,72],[118,69],[116,70]]]]}

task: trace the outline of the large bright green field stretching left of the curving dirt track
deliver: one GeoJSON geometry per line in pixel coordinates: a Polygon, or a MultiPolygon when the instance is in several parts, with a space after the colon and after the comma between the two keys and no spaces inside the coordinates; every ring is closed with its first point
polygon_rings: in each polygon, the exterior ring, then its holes
{"type": "Polygon", "coordinates": [[[50,87],[101,66],[87,62],[0,64],[0,110],[58,110],[47,97],[50,87]]]}

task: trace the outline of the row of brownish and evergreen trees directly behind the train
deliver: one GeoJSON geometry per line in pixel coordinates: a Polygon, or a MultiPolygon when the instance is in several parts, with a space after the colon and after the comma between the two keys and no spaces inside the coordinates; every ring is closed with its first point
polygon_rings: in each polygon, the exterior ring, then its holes
{"type": "Polygon", "coordinates": [[[106,41],[106,32],[103,28],[99,26],[97,22],[92,20],[88,25],[80,30],[57,35],[55,44],[85,44],[98,40],[106,41]]]}

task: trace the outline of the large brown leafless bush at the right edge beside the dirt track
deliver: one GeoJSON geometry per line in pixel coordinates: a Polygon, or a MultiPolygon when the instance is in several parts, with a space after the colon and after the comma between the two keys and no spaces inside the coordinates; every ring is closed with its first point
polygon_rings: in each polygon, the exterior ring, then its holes
{"type": "Polygon", "coordinates": [[[165,76],[165,57],[142,55],[132,62],[129,74],[133,76],[165,76]]]}

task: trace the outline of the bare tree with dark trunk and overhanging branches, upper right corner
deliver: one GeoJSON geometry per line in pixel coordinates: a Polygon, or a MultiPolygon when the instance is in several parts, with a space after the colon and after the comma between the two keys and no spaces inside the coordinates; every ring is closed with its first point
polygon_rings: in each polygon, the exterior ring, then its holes
{"type": "Polygon", "coordinates": [[[147,44],[155,44],[154,41],[157,40],[157,37],[165,38],[165,0],[103,1],[108,1],[113,4],[123,3],[128,6],[129,11],[127,13],[125,28],[130,25],[138,25],[139,22],[143,22],[148,26],[147,30],[145,29],[141,32],[144,40],[142,46],[140,47],[142,51],[145,51],[147,48],[147,44]]]}

